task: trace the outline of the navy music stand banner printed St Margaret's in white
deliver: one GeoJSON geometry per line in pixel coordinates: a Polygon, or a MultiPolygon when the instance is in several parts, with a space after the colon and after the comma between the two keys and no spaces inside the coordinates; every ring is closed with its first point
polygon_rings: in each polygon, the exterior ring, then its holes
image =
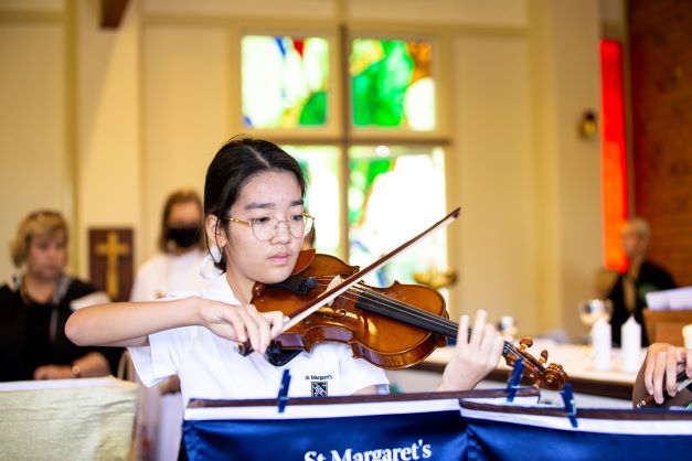
{"type": "Polygon", "coordinates": [[[183,433],[190,460],[459,459],[467,394],[294,398],[283,409],[276,400],[193,400],[183,433]]]}

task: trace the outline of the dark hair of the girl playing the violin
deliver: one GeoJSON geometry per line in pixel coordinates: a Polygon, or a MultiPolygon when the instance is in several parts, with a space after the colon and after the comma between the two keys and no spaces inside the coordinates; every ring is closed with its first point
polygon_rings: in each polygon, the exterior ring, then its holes
{"type": "MultiPolygon", "coordinates": [[[[251,178],[267,171],[294,173],[300,194],[305,196],[306,179],[300,165],[288,153],[273,142],[255,138],[234,138],[226,142],[209,165],[204,182],[204,214],[217,217],[237,201],[241,189],[251,178]]],[[[224,226],[225,232],[225,226],[224,226]]],[[[221,270],[226,269],[225,256],[214,261],[221,270]]]]}

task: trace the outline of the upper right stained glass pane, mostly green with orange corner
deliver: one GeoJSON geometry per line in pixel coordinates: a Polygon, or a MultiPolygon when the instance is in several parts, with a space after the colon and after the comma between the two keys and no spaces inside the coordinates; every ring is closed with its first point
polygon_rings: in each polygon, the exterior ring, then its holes
{"type": "Polygon", "coordinates": [[[356,128],[435,128],[435,81],[428,41],[354,39],[349,56],[356,128]]]}

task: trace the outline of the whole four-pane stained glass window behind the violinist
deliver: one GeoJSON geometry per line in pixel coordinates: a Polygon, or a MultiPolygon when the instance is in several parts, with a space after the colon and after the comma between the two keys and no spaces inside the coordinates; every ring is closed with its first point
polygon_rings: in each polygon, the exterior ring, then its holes
{"type": "MultiPolygon", "coordinates": [[[[349,54],[341,61],[348,61],[343,72],[351,85],[338,94],[348,95],[352,117],[334,120],[343,124],[333,126],[338,140],[309,144],[312,138],[306,135],[300,144],[283,146],[309,176],[306,207],[316,217],[313,246],[318,251],[342,255],[345,249],[349,264],[365,267],[447,214],[441,148],[356,146],[349,136],[359,129],[436,129],[433,50],[426,40],[351,40],[349,54]],[[340,206],[344,190],[347,210],[340,206]],[[342,233],[344,227],[348,235],[342,233]]],[[[245,126],[274,130],[327,127],[329,53],[329,41],[322,37],[244,36],[245,126]]],[[[420,275],[434,277],[446,268],[443,230],[398,255],[365,281],[374,286],[395,280],[425,283],[420,275]]]]}

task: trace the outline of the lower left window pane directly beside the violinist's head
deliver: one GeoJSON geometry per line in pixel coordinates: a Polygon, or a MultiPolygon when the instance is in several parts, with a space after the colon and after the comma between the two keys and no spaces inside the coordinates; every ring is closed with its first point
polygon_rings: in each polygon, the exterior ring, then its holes
{"type": "Polygon", "coordinates": [[[331,146],[283,146],[294,156],[308,178],[306,210],[315,216],[315,248],[339,254],[339,149],[331,146]]]}

